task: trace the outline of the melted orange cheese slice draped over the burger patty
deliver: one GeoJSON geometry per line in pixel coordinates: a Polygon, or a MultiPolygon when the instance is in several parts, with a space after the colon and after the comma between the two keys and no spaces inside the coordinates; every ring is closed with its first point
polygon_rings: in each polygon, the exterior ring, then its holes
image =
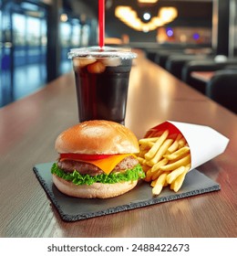
{"type": "MultiPolygon", "coordinates": [[[[121,155],[111,155],[108,156],[105,159],[99,159],[99,160],[92,160],[92,161],[85,161],[85,160],[74,160],[78,162],[85,162],[92,165],[97,165],[98,168],[103,170],[107,175],[111,173],[111,171],[115,168],[118,163],[120,163],[125,157],[132,155],[132,154],[121,154],[121,155]]],[[[136,157],[135,155],[132,155],[136,157]]],[[[61,161],[66,160],[66,158],[61,159],[61,161]]]]}

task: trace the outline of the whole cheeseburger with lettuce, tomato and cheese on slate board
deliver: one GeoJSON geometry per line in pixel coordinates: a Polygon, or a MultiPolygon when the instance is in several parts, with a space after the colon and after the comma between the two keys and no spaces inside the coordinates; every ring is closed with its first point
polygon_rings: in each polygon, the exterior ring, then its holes
{"type": "Polygon", "coordinates": [[[135,155],[138,140],[119,123],[78,123],[58,135],[55,147],[59,158],[51,169],[53,182],[67,196],[117,197],[145,176],[135,155]]]}

